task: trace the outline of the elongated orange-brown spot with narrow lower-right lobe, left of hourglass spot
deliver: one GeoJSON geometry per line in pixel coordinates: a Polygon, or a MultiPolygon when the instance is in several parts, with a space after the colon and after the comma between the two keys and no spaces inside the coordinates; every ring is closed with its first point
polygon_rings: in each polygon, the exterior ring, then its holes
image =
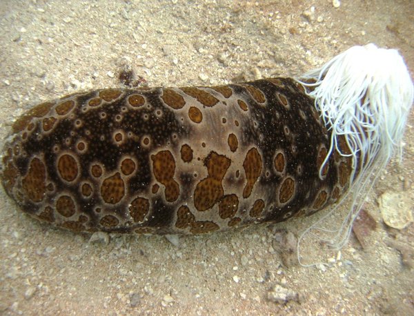
{"type": "Polygon", "coordinates": [[[164,184],[166,200],[169,202],[176,201],[179,196],[179,186],[174,179],[175,159],[169,150],[157,152],[152,155],[152,171],[155,179],[164,184]]]}

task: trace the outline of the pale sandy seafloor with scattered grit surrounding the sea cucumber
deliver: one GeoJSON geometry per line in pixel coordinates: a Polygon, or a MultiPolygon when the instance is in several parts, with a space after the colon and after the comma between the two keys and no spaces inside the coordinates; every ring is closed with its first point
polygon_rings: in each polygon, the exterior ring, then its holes
{"type": "MultiPolygon", "coordinates": [[[[413,76],[413,16],[411,0],[1,0],[0,137],[35,103],[119,87],[124,63],[150,86],[221,84],[299,75],[374,42],[400,50],[413,76]]],[[[89,242],[23,215],[1,190],[0,314],[414,315],[413,224],[387,228],[377,204],[386,191],[414,195],[413,123],[411,112],[402,163],[391,161],[366,198],[377,221],[367,246],[354,236],[340,253],[304,244],[304,259],[326,268],[284,266],[264,225],[179,246],[159,236],[89,242]],[[277,284],[299,299],[270,301],[277,284]]],[[[277,227],[299,234],[318,216],[277,227]]]]}

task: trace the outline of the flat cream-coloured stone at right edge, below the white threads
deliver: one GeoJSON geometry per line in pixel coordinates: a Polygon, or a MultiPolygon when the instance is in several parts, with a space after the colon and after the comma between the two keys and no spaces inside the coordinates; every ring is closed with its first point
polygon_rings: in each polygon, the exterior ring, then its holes
{"type": "Polygon", "coordinates": [[[413,222],[411,198],[403,192],[384,192],[378,199],[378,204],[386,225],[403,229],[413,222]]]}

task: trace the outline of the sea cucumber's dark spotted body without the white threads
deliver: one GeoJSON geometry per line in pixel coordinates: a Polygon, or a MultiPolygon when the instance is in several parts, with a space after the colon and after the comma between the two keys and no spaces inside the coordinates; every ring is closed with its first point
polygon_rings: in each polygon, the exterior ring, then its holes
{"type": "Polygon", "coordinates": [[[208,233],[337,201],[351,161],[333,154],[319,178],[330,136],[293,79],[96,90],[19,118],[1,179],[23,211],[63,228],[208,233]]]}

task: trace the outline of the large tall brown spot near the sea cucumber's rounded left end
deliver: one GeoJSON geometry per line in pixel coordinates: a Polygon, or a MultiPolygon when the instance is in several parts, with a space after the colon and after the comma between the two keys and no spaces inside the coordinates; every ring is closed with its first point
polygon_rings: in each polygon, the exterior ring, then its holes
{"type": "Polygon", "coordinates": [[[28,174],[21,180],[23,190],[29,199],[39,202],[46,193],[46,168],[39,158],[30,161],[28,174]]]}

